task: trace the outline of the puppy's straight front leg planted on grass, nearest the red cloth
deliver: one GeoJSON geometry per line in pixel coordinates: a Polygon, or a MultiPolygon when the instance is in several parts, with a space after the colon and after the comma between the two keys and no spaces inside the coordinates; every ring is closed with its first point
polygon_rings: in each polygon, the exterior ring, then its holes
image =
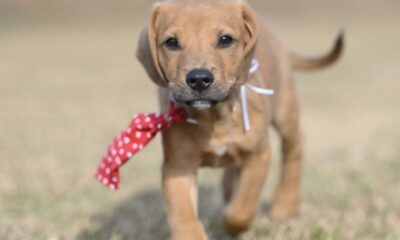
{"type": "Polygon", "coordinates": [[[177,128],[163,134],[162,186],[173,240],[207,239],[197,216],[196,178],[201,158],[191,141],[188,131],[177,128]]]}

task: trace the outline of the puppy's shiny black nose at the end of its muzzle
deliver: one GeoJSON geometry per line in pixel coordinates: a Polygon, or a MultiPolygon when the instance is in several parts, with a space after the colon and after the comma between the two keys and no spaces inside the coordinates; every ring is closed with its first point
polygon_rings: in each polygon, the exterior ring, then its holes
{"type": "Polygon", "coordinates": [[[196,91],[207,90],[214,82],[214,75],[207,69],[193,69],[186,75],[187,85],[196,91]]]}

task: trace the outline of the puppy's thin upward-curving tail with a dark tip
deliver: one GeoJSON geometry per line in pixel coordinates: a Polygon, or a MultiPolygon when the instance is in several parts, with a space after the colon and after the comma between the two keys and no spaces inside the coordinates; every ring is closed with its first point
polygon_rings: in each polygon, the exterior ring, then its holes
{"type": "Polygon", "coordinates": [[[344,32],[340,32],[336,38],[335,45],[333,49],[325,56],[316,57],[316,58],[302,58],[291,54],[290,60],[292,66],[295,69],[299,70],[315,70],[327,67],[333,63],[335,63],[340,56],[342,55],[344,50],[344,32]]]}

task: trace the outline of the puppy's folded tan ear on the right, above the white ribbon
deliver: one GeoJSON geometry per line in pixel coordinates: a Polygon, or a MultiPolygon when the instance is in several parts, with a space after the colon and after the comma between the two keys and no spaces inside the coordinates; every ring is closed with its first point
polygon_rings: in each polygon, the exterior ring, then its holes
{"type": "Polygon", "coordinates": [[[237,4],[243,21],[243,29],[245,31],[244,57],[239,68],[237,84],[243,84],[248,79],[251,61],[256,50],[258,25],[255,13],[251,7],[244,1],[239,1],[237,4]]]}

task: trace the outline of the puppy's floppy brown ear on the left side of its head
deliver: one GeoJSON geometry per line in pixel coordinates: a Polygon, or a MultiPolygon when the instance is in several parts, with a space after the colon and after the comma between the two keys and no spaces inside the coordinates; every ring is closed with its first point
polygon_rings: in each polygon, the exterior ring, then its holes
{"type": "Polygon", "coordinates": [[[149,77],[157,85],[167,87],[168,82],[160,66],[157,44],[157,21],[162,10],[162,3],[154,5],[150,21],[140,35],[136,57],[145,68],[149,77]]]}

